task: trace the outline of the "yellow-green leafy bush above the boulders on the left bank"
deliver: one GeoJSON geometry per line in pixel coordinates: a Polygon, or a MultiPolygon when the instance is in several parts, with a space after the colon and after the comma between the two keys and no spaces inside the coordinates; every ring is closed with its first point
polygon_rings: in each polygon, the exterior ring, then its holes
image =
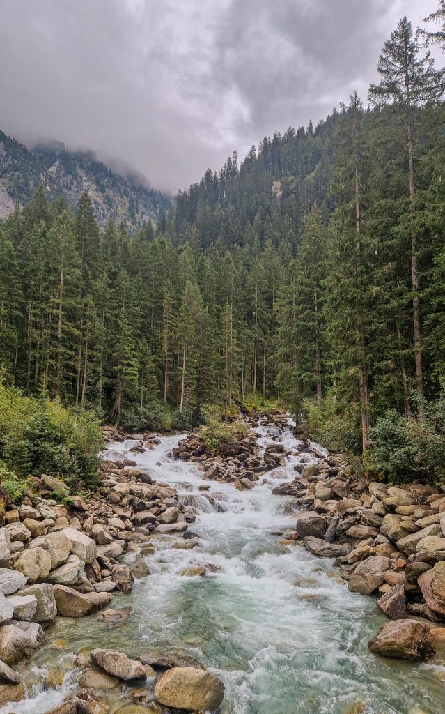
{"type": "Polygon", "coordinates": [[[0,384],[0,458],[19,481],[50,473],[72,486],[92,483],[102,448],[93,414],[0,384]]]}

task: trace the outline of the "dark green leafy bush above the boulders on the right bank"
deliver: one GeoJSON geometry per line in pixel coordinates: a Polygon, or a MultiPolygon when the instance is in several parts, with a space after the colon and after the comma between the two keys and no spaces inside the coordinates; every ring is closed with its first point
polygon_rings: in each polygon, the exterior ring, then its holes
{"type": "MultiPolygon", "coordinates": [[[[419,399],[416,398],[419,403],[419,399]]],[[[443,483],[445,479],[445,400],[421,400],[423,416],[407,420],[389,410],[370,430],[367,470],[401,483],[416,479],[443,483]]]]}

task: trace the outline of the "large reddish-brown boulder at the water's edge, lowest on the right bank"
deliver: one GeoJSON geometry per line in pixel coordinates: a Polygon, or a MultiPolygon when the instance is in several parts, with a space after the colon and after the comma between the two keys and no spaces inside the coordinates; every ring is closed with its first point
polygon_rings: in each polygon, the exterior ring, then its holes
{"type": "Polygon", "coordinates": [[[400,657],[426,662],[434,657],[433,638],[426,623],[394,620],[378,630],[368,643],[369,650],[384,657],[400,657]]]}

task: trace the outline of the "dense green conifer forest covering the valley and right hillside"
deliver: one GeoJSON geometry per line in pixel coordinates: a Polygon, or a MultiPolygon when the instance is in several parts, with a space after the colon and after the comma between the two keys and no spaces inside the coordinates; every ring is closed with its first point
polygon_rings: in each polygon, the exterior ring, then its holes
{"type": "Polygon", "coordinates": [[[399,418],[424,417],[434,441],[444,81],[406,19],[379,76],[369,109],[354,94],[234,154],[132,236],[99,228],[87,192],[72,211],[39,188],[1,226],[7,378],[135,427],[163,403],[199,421],[253,392],[356,451],[382,418],[397,442],[399,418]]]}

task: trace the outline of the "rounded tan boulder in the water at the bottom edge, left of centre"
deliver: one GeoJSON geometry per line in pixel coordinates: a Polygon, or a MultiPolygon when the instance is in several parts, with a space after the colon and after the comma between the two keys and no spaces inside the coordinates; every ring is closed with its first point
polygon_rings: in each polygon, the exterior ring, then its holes
{"type": "Polygon", "coordinates": [[[173,667],[161,674],[155,685],[155,700],[178,709],[215,711],[223,698],[223,683],[194,667],[173,667]]]}

